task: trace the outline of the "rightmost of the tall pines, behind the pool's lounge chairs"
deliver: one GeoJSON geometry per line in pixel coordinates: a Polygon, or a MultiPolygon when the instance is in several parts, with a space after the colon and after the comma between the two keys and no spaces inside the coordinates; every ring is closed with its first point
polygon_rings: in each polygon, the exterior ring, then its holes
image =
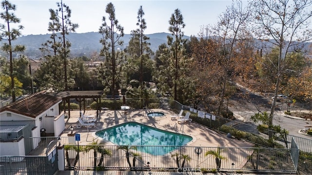
{"type": "Polygon", "coordinates": [[[194,89],[192,80],[188,78],[188,64],[192,58],[187,57],[186,39],[183,39],[182,29],[185,27],[183,16],[179,9],[176,9],[169,20],[169,31],[172,36],[167,37],[168,48],[162,46],[162,54],[158,57],[159,74],[157,81],[161,83],[162,91],[174,92],[174,99],[187,103],[188,96],[194,89]],[[165,88],[165,89],[164,89],[165,88]]]}

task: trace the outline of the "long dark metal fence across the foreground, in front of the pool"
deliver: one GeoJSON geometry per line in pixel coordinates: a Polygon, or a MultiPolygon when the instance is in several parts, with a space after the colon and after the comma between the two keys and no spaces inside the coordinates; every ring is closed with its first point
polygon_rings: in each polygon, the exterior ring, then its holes
{"type": "Polygon", "coordinates": [[[185,147],[185,146],[116,146],[65,145],[67,169],[161,170],[161,171],[254,171],[295,173],[298,149],[185,147]],[[152,155],[151,152],[168,154],[152,155]],[[79,151],[78,151],[79,150],[79,151]],[[219,153],[219,154],[218,154],[219,153]],[[217,166],[216,157],[220,158],[217,166]]]}

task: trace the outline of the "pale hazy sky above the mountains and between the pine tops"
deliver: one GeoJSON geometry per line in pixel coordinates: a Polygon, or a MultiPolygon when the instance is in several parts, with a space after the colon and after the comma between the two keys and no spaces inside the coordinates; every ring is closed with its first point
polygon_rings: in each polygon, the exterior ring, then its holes
{"type": "MultiPolygon", "coordinates": [[[[49,9],[57,9],[56,3],[60,0],[9,1],[17,6],[14,13],[24,26],[22,35],[49,34],[49,9]]],[[[138,28],[137,11],[142,5],[147,23],[145,34],[168,32],[168,21],[178,8],[186,25],[184,35],[197,36],[200,26],[215,24],[218,15],[231,5],[232,0],[63,0],[72,10],[71,21],[79,25],[77,33],[98,32],[102,17],[107,17],[105,8],[109,2],[114,4],[116,18],[125,34],[138,28]]]]}

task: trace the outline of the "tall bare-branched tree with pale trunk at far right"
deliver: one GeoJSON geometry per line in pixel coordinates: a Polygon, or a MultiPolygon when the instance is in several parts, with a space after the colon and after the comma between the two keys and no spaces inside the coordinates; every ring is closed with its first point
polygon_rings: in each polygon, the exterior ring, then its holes
{"type": "MultiPolygon", "coordinates": [[[[278,49],[276,83],[272,102],[269,129],[273,126],[273,115],[282,76],[289,64],[288,53],[299,52],[302,43],[312,38],[310,19],[312,0],[256,0],[250,2],[253,11],[255,36],[278,49]]],[[[272,135],[272,133],[271,133],[272,135]]]]}

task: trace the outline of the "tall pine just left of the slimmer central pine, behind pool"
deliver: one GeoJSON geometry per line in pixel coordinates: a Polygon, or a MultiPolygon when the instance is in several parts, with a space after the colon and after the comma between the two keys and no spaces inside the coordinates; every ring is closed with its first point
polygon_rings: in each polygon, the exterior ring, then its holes
{"type": "Polygon", "coordinates": [[[122,80],[121,73],[125,62],[125,54],[118,46],[123,45],[121,39],[124,35],[123,27],[118,24],[118,20],[115,16],[115,7],[113,3],[106,5],[105,12],[108,14],[108,23],[106,18],[102,18],[102,25],[99,28],[98,33],[102,35],[99,42],[102,44],[100,56],[104,57],[104,62],[97,68],[99,79],[102,84],[106,86],[112,93],[112,97],[115,99],[117,94],[117,88],[122,80]]]}

